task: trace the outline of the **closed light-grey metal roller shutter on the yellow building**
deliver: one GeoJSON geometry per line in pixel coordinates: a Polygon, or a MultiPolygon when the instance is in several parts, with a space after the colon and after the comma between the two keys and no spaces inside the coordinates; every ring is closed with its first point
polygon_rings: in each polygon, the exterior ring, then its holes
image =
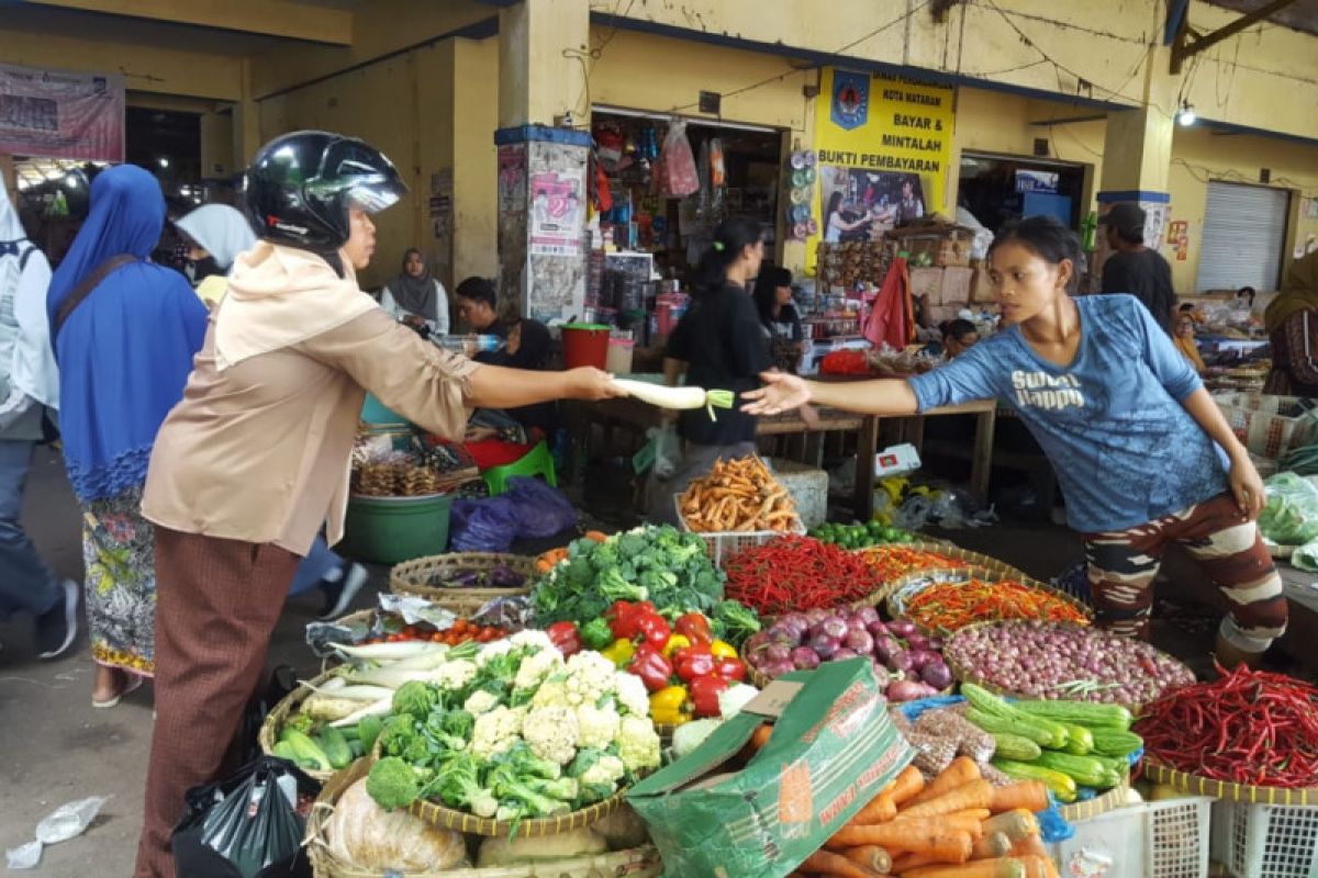
{"type": "Polygon", "coordinates": [[[1276,290],[1289,201],[1286,190],[1210,182],[1195,290],[1276,290]]]}

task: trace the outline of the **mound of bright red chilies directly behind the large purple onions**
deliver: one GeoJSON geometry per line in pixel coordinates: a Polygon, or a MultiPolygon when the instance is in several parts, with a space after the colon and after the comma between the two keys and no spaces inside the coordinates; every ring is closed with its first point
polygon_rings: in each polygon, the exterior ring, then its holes
{"type": "Polygon", "coordinates": [[[867,598],[883,581],[858,554],[811,537],[784,536],[733,555],[725,592],[762,616],[832,609],[867,598]]]}

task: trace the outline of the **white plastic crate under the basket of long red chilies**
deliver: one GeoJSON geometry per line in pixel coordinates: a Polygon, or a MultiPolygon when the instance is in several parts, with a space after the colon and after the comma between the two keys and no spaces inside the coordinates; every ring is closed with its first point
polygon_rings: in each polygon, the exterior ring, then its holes
{"type": "Polygon", "coordinates": [[[1213,858],[1231,878],[1318,878],[1318,806],[1213,806],[1213,858]]]}

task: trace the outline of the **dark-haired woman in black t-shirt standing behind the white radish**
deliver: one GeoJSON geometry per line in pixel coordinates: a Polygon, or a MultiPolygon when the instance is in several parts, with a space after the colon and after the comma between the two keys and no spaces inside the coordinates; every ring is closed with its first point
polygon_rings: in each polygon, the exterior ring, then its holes
{"type": "MultiPolygon", "coordinates": [[[[759,274],[764,257],[764,233],[746,217],[725,220],[714,230],[709,249],[700,257],[692,284],[691,308],[673,329],[664,351],[664,380],[705,390],[747,391],[771,367],[768,345],[760,329],[747,283],[759,274]]],[[[677,434],[685,452],[662,495],[654,499],[651,517],[672,521],[672,496],[681,494],[696,477],[709,471],[718,458],[733,459],[755,452],[755,417],[739,411],[684,411],[677,434]]]]}

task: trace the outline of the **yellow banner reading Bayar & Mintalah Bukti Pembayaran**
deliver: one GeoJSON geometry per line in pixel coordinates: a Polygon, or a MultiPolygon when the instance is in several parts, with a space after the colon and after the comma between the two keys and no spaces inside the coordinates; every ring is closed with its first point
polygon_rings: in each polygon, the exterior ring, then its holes
{"type": "Polygon", "coordinates": [[[817,186],[807,270],[820,241],[878,240],[942,209],[953,90],[828,67],[815,101],[817,186]]]}

